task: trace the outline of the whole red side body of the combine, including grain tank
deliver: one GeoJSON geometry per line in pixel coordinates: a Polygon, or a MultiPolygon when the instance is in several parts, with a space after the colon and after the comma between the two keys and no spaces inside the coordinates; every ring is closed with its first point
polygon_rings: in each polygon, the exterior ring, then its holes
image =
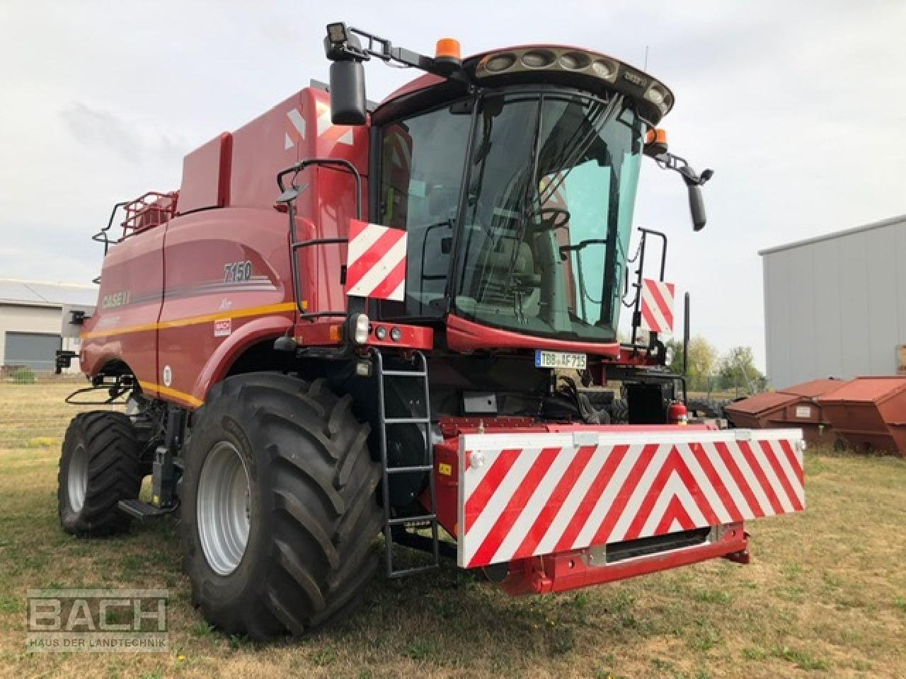
{"type": "MultiPolygon", "coordinates": [[[[311,88],[188,154],[181,214],[114,244],[104,260],[82,369],[93,376],[121,360],[150,396],[195,407],[244,349],[293,327],[289,225],[275,206],[276,175],[313,157],[348,159],[367,191],[368,128],[332,126],[327,93],[311,88]]],[[[297,237],[344,237],[356,216],[352,175],[312,167],[295,181],[305,186],[297,237]]],[[[306,311],[345,312],[345,245],[297,256],[306,311]]]]}

